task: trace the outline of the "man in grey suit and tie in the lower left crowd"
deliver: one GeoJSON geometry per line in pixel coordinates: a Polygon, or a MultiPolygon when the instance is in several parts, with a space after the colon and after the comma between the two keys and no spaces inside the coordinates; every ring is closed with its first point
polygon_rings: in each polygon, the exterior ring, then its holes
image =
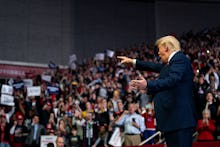
{"type": "Polygon", "coordinates": [[[40,136],[46,134],[44,126],[39,122],[39,115],[35,114],[32,118],[32,124],[28,129],[29,133],[26,138],[28,147],[38,147],[40,145],[40,136]]]}

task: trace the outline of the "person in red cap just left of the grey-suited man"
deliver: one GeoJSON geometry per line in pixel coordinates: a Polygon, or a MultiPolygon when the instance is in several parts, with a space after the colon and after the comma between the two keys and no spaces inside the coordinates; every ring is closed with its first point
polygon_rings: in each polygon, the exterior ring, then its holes
{"type": "Polygon", "coordinates": [[[10,129],[10,134],[12,136],[12,146],[14,147],[24,147],[25,140],[28,136],[27,127],[24,125],[24,116],[21,114],[17,115],[17,120],[14,121],[13,126],[10,129]]]}

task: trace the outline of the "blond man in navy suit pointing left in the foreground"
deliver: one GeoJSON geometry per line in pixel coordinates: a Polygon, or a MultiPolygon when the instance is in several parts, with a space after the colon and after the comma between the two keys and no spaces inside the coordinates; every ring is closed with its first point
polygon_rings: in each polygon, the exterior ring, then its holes
{"type": "Polygon", "coordinates": [[[173,36],[156,41],[161,63],[144,62],[119,56],[121,63],[132,63],[138,70],[160,73],[156,80],[142,76],[130,82],[130,89],[147,89],[154,94],[158,130],[164,132],[168,147],[191,147],[196,125],[192,98],[193,70],[189,59],[180,51],[180,43],[173,36]]]}

